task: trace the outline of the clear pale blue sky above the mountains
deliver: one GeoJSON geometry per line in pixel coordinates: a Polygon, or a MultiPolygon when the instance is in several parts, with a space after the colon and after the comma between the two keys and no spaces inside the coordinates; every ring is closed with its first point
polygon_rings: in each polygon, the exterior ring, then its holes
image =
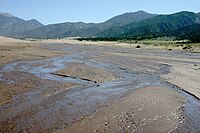
{"type": "Polygon", "coordinates": [[[200,0],[0,0],[0,12],[25,20],[34,18],[43,24],[103,22],[138,10],[158,14],[200,12],[200,0]]]}

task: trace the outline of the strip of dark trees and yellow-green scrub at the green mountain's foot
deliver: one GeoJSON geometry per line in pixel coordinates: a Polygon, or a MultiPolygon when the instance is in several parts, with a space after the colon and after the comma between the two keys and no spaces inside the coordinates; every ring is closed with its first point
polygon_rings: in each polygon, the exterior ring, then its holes
{"type": "MultiPolygon", "coordinates": [[[[159,37],[159,38],[148,38],[148,39],[133,39],[133,38],[77,38],[79,41],[117,41],[119,43],[138,44],[136,48],[140,48],[143,45],[160,47],[166,50],[184,50],[195,52],[195,48],[200,48],[200,43],[192,43],[190,40],[177,40],[175,37],[159,37]]],[[[197,51],[196,51],[197,52],[197,51]]]]}

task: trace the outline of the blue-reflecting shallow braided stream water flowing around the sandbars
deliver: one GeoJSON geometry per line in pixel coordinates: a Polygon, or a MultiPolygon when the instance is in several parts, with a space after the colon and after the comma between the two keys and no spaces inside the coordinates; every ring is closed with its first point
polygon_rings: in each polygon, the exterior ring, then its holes
{"type": "MultiPolygon", "coordinates": [[[[49,45],[51,49],[56,49],[56,45],[49,45]]],[[[52,118],[49,118],[49,121],[64,121],[66,124],[70,124],[71,122],[78,119],[78,117],[82,115],[90,115],[93,113],[97,106],[103,106],[105,104],[109,104],[113,102],[114,99],[118,97],[122,97],[123,95],[129,93],[129,91],[134,90],[135,88],[140,88],[149,85],[158,85],[170,87],[171,89],[175,89],[182,96],[184,96],[187,101],[184,106],[184,115],[185,115],[185,124],[182,128],[180,128],[180,132],[200,132],[200,102],[195,97],[187,94],[184,91],[176,88],[176,86],[172,86],[160,81],[159,74],[168,73],[169,66],[165,64],[159,64],[153,61],[143,62],[143,61],[134,61],[131,58],[126,58],[122,56],[110,56],[106,58],[106,55],[103,55],[101,50],[107,50],[107,52],[111,52],[112,49],[106,49],[105,47],[100,47],[99,51],[94,50],[93,46],[88,47],[74,47],[68,46],[64,49],[61,49],[67,52],[73,52],[73,54],[55,57],[46,60],[40,61],[21,61],[10,63],[3,66],[0,70],[1,72],[9,72],[9,71],[21,71],[28,72],[34,74],[40,78],[62,81],[62,82],[72,82],[80,84],[79,87],[74,87],[69,90],[63,90],[61,92],[55,93],[54,97],[44,97],[42,99],[37,99],[37,96],[40,92],[33,91],[24,93],[22,95],[18,95],[15,99],[20,99],[21,97],[25,97],[27,102],[22,105],[16,107],[14,105],[10,105],[11,109],[17,110],[17,112],[22,111],[25,107],[35,107],[39,109],[38,113],[34,115],[33,118],[29,120],[29,124],[31,124],[31,120],[41,119],[42,117],[46,117],[45,113],[52,114],[52,118]],[[83,52],[84,51],[84,52],[83,52]],[[101,83],[97,86],[94,82],[82,80],[82,79],[74,79],[70,77],[59,77],[56,75],[52,75],[52,72],[61,70],[68,66],[68,63],[77,62],[84,63],[90,66],[103,68],[115,75],[118,76],[118,79],[101,83]],[[127,64],[125,67],[121,64],[127,64]],[[128,66],[130,65],[130,66],[128,66]],[[147,69],[144,72],[139,72],[135,70],[131,70],[131,68],[140,67],[147,69]],[[52,103],[48,103],[48,99],[51,98],[52,103]],[[45,100],[46,99],[46,102],[45,100]],[[55,100],[52,100],[55,99],[55,100]],[[43,101],[44,100],[44,101],[43,101]],[[39,105],[40,102],[43,102],[39,105]],[[45,105],[48,103],[48,105],[45,105]],[[44,106],[47,106],[44,108],[44,106]],[[67,107],[67,108],[66,108],[67,107]],[[63,110],[66,116],[60,116],[58,113],[59,110],[63,110]],[[45,112],[45,113],[44,113],[45,112]],[[67,119],[67,121],[66,121],[67,119]]],[[[120,51],[116,49],[116,51],[120,51]]],[[[130,49],[123,49],[121,52],[129,52],[130,49]]],[[[141,51],[136,51],[141,52],[141,51]]],[[[155,54],[150,53],[150,54],[155,54]]],[[[163,54],[163,53],[156,53],[163,54]]],[[[170,55],[171,53],[164,53],[166,55],[170,55]]],[[[180,54],[180,53],[178,53],[180,54]]],[[[191,55],[187,55],[191,56],[191,55]]],[[[198,56],[195,55],[195,58],[198,56]]],[[[145,70],[144,69],[144,70],[145,70]]],[[[12,83],[14,81],[7,81],[3,79],[3,76],[0,75],[0,80],[4,80],[4,82],[12,83]]],[[[19,101],[19,100],[18,100],[19,101]]],[[[16,104],[16,103],[15,103],[16,104]]],[[[9,107],[1,107],[9,108],[9,107]]],[[[10,116],[11,117],[11,116],[10,116]]],[[[5,118],[6,119],[6,118],[5,118]]],[[[19,120],[21,122],[23,120],[19,120]]],[[[28,121],[28,120],[27,120],[28,121]]],[[[48,123],[48,126],[51,127],[55,123],[48,123]]]]}

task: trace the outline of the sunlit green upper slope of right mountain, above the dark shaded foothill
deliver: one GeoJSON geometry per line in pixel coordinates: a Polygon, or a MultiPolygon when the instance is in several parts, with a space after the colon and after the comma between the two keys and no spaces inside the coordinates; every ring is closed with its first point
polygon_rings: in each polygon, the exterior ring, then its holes
{"type": "Polygon", "coordinates": [[[112,27],[103,31],[99,37],[156,37],[170,34],[170,31],[199,23],[198,15],[193,12],[179,12],[170,15],[158,15],[125,26],[112,27]]]}

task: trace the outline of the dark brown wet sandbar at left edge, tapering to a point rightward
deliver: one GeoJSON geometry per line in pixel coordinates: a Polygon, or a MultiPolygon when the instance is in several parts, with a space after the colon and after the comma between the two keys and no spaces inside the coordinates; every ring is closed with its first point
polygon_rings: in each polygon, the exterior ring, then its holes
{"type": "Polygon", "coordinates": [[[72,83],[44,80],[26,72],[10,71],[1,74],[4,80],[0,81],[0,105],[15,102],[15,96],[23,93],[41,91],[40,97],[46,97],[61,89],[78,86],[72,83]]]}

